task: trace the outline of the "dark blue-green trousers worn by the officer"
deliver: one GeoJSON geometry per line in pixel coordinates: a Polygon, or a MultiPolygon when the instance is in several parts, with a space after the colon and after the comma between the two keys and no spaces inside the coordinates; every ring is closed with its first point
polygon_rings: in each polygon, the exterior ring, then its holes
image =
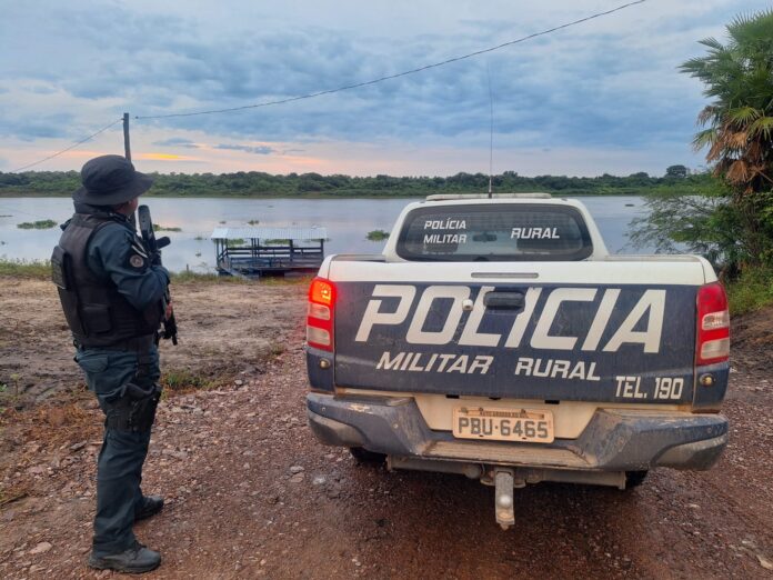
{"type": "Polygon", "coordinates": [[[158,382],[158,350],[151,347],[150,351],[138,353],[79,349],[76,360],[106,414],[104,437],[97,463],[93,551],[97,556],[118,553],[132,547],[135,541],[132,524],[135,511],[142,506],[140,483],[151,426],[137,430],[116,426],[108,418],[114,418],[126,403],[129,383],[151,389],[158,382]]]}

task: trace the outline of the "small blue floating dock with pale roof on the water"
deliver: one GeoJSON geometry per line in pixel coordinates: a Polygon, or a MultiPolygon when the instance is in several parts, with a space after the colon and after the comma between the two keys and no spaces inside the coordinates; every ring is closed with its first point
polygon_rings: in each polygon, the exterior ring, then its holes
{"type": "Polygon", "coordinates": [[[325,228],[215,228],[215,264],[221,276],[260,278],[314,272],[324,260],[325,228]]]}

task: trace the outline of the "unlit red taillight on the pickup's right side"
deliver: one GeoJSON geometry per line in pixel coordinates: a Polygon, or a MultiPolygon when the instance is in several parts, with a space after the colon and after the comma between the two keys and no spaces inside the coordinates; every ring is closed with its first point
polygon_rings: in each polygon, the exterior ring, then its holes
{"type": "Polygon", "coordinates": [[[697,290],[695,366],[724,362],[730,358],[727,296],[720,282],[697,290]]]}

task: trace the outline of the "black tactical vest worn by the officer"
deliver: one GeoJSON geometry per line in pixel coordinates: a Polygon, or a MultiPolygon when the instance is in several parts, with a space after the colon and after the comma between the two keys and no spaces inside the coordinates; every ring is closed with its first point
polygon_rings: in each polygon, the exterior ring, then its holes
{"type": "Polygon", "coordinates": [[[113,347],[153,334],[163,317],[162,302],[140,312],[107,276],[100,279],[89,268],[91,238],[112,222],[116,218],[109,214],[76,213],[51,256],[53,282],[64,318],[74,342],[87,348],[113,347]]]}

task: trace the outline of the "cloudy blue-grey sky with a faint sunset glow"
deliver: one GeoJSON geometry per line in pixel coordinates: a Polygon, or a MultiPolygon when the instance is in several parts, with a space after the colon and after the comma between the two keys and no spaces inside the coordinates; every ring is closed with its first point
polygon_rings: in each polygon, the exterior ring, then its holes
{"type": "MultiPolygon", "coordinates": [[[[140,171],[662,176],[703,167],[707,103],[679,72],[756,0],[0,0],[0,171],[130,113],[140,171]],[[493,114],[492,114],[493,110],[493,114]],[[143,119],[145,118],[145,119],[143,119]],[[492,123],[493,119],[493,123],[492,123]],[[493,124],[493,131],[492,131],[493,124]],[[492,147],[493,142],[493,147],[492,147]]],[[[30,170],[123,153],[122,124],[30,170]]]]}

